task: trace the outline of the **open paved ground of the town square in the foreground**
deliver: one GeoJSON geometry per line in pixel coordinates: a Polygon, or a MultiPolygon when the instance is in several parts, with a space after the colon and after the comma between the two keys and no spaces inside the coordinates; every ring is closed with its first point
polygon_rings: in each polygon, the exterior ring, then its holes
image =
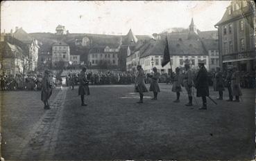
{"type": "MultiPolygon", "coordinates": [[[[148,85],[147,85],[148,86],[148,85]]],[[[171,86],[161,84],[159,100],[144,104],[134,86],[90,86],[88,106],[80,106],[78,89],[55,90],[52,109],[44,111],[40,93],[29,102],[11,101],[3,107],[3,158],[7,160],[250,160],[255,148],[255,91],[243,89],[243,102],[208,101],[207,111],[175,104],[171,86]],[[40,104],[38,103],[40,102],[40,104]],[[20,105],[20,106],[17,106],[20,105]],[[19,109],[20,108],[20,109],[19,109]],[[19,118],[22,117],[22,118],[19,118]],[[17,138],[17,142],[14,139],[17,138]],[[19,146],[17,146],[19,145],[19,146]]],[[[1,96],[0,95],[0,96],[1,96]]],[[[13,96],[14,97],[14,96],[13,96]]],[[[228,93],[224,93],[228,99],[228,93]]]]}

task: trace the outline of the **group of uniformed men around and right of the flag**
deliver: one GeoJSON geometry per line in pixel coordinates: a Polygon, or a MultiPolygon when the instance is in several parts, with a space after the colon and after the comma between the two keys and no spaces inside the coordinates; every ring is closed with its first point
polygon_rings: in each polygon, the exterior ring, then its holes
{"type": "MultiPolygon", "coordinates": [[[[207,99],[209,95],[209,84],[207,77],[207,70],[205,68],[204,61],[198,62],[199,70],[194,75],[190,69],[189,64],[185,64],[185,73],[182,75],[180,73],[180,68],[176,68],[176,73],[171,77],[173,86],[171,91],[176,93],[176,100],[173,102],[180,102],[180,93],[182,92],[182,87],[185,87],[188,95],[189,102],[185,106],[193,106],[193,89],[196,88],[196,97],[201,97],[203,106],[199,109],[207,109],[207,99]]],[[[140,100],[139,104],[143,103],[143,93],[148,92],[144,83],[144,71],[142,66],[137,66],[137,77],[135,79],[135,92],[139,93],[140,100]]],[[[152,100],[157,100],[157,93],[160,92],[158,79],[159,73],[157,73],[157,68],[153,68],[153,75],[151,75],[151,85],[149,91],[153,91],[152,100]]],[[[223,77],[223,73],[220,68],[217,68],[216,75],[214,77],[214,91],[219,91],[219,98],[217,100],[223,100],[223,91],[225,91],[225,83],[228,87],[229,100],[233,101],[233,96],[235,96],[234,102],[239,102],[239,96],[242,95],[239,80],[239,71],[237,68],[228,68],[228,75],[226,78],[223,77]]],[[[195,99],[195,98],[194,98],[195,99]]]]}

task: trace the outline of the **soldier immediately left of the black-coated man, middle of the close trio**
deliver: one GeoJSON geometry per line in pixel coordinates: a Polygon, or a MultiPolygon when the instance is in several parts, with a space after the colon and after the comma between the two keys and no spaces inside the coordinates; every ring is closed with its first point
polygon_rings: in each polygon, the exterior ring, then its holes
{"type": "Polygon", "coordinates": [[[193,86],[193,75],[189,64],[185,64],[185,74],[183,79],[183,86],[185,86],[187,95],[189,96],[189,103],[186,106],[193,106],[192,104],[192,86],[193,86]]]}

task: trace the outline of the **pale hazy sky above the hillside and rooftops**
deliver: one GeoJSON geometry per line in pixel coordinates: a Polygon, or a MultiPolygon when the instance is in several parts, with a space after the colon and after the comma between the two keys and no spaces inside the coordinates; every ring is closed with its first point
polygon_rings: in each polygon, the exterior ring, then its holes
{"type": "Polygon", "coordinates": [[[152,35],[167,28],[188,28],[194,18],[201,31],[216,30],[230,1],[1,1],[1,32],[152,35]]]}

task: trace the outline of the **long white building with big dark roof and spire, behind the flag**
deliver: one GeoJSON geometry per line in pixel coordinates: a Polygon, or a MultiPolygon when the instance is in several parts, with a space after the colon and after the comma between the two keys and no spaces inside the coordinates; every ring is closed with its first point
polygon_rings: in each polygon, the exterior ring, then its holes
{"type": "Polygon", "coordinates": [[[205,67],[209,70],[209,55],[196,32],[193,19],[189,25],[189,30],[162,35],[161,39],[148,42],[146,50],[140,54],[140,64],[146,73],[151,73],[153,66],[160,73],[169,73],[171,68],[173,71],[176,67],[184,68],[185,61],[189,61],[191,68],[198,68],[199,59],[205,61],[205,67]],[[162,67],[164,48],[167,44],[166,36],[171,64],[162,67]]]}

